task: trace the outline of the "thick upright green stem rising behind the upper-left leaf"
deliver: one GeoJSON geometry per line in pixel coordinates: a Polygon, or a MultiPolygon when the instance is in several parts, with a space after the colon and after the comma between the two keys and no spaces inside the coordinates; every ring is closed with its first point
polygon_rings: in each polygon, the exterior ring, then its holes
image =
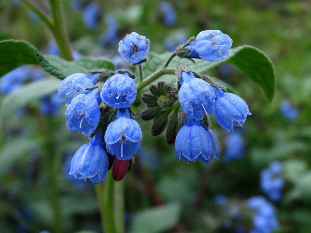
{"type": "Polygon", "coordinates": [[[63,16],[59,0],[49,0],[51,7],[51,14],[53,19],[52,34],[57,43],[60,55],[62,58],[72,61],[72,53],[70,50],[70,43],[67,36],[67,31],[63,25],[63,16]]]}

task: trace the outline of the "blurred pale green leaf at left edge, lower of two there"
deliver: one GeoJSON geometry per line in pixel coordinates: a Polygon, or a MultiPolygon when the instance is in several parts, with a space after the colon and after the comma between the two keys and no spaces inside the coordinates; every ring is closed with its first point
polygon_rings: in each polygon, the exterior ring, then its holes
{"type": "Polygon", "coordinates": [[[0,151],[0,176],[7,172],[12,164],[18,161],[25,152],[38,146],[33,139],[21,137],[10,140],[0,151]]]}

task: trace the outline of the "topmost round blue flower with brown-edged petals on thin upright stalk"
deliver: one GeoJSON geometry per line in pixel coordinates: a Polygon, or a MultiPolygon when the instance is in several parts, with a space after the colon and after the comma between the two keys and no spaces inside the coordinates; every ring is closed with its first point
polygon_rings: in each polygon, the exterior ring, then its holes
{"type": "Polygon", "coordinates": [[[126,62],[136,64],[146,58],[149,49],[149,39],[136,32],[132,32],[120,40],[118,52],[126,62]]]}

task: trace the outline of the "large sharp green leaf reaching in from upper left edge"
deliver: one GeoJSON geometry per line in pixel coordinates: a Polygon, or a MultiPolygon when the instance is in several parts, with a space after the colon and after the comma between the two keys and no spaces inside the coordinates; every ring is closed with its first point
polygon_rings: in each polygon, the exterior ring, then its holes
{"type": "Polygon", "coordinates": [[[40,65],[59,79],[73,73],[85,73],[86,70],[114,69],[113,64],[106,60],[83,57],[68,62],[57,56],[43,55],[33,45],[23,40],[0,41],[0,77],[25,64],[40,65]]]}

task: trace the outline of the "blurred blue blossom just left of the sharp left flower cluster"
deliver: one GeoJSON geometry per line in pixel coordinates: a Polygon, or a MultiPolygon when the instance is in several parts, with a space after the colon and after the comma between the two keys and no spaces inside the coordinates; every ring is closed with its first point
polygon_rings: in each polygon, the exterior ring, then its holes
{"type": "Polygon", "coordinates": [[[54,92],[49,96],[41,97],[40,102],[40,112],[51,116],[57,115],[59,108],[62,105],[62,103],[58,101],[57,92],[54,92]]]}

